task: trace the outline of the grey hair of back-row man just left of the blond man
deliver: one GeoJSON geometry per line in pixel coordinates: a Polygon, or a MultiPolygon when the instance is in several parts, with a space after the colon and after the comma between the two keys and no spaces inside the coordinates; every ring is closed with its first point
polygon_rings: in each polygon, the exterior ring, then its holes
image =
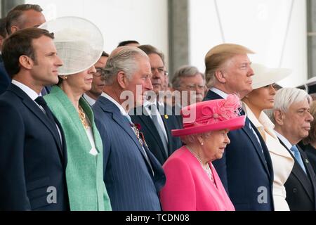
{"type": "Polygon", "coordinates": [[[201,75],[204,82],[205,82],[205,75],[202,72],[192,65],[183,65],[182,67],[178,68],[173,75],[172,79],[172,87],[174,89],[178,89],[181,86],[181,78],[182,77],[195,77],[196,75],[201,75]]]}

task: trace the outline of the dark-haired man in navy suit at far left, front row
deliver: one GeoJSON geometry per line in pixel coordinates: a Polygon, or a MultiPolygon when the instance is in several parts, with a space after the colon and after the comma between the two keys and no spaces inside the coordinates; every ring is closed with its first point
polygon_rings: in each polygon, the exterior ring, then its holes
{"type": "Polygon", "coordinates": [[[2,56],[12,83],[0,96],[0,210],[68,210],[63,132],[40,96],[62,65],[53,34],[15,32],[2,56]]]}

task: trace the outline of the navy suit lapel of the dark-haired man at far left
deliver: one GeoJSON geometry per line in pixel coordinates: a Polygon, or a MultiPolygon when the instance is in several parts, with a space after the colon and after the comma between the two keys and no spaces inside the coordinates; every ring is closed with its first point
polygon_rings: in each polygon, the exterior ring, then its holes
{"type": "MultiPolygon", "coordinates": [[[[58,146],[58,153],[60,155],[60,158],[62,158],[62,146],[60,143],[60,136],[58,134],[57,127],[56,129],[54,129],[53,126],[55,126],[55,124],[53,124],[50,120],[48,120],[48,117],[44,114],[44,112],[39,108],[39,106],[37,106],[36,103],[34,103],[34,101],[32,101],[31,98],[29,98],[29,96],[27,94],[25,94],[24,91],[22,91],[18,86],[12,85],[10,87],[11,91],[13,91],[13,93],[15,93],[16,95],[18,95],[20,98],[22,98],[22,103],[29,108],[29,110],[32,111],[32,113],[34,113],[34,115],[36,117],[39,118],[39,120],[41,120],[41,122],[43,122],[45,124],[45,126],[47,127],[47,129],[51,132],[51,134],[53,135],[53,138],[55,139],[55,143],[58,146]],[[57,134],[56,134],[57,133],[57,134]]],[[[55,117],[54,117],[55,118],[55,117]]],[[[61,127],[60,127],[61,129],[61,127]]],[[[60,130],[61,131],[61,130],[60,130]]]]}

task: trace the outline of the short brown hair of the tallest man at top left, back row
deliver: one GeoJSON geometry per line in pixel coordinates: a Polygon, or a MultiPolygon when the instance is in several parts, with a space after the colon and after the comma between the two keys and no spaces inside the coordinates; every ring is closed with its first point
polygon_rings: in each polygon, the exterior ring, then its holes
{"type": "Polygon", "coordinates": [[[8,12],[8,15],[6,15],[6,32],[11,34],[11,27],[13,25],[21,26],[24,22],[21,20],[23,12],[31,9],[37,12],[43,11],[41,6],[36,4],[22,4],[11,9],[11,11],[8,12]]]}

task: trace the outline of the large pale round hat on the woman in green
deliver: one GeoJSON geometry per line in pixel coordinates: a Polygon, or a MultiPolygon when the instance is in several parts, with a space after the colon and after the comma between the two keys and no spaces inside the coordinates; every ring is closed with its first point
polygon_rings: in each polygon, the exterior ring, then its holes
{"type": "Polygon", "coordinates": [[[40,26],[54,33],[54,43],[63,65],[59,75],[73,75],[88,70],[103,52],[102,32],[90,21],[66,16],[40,26]]]}

